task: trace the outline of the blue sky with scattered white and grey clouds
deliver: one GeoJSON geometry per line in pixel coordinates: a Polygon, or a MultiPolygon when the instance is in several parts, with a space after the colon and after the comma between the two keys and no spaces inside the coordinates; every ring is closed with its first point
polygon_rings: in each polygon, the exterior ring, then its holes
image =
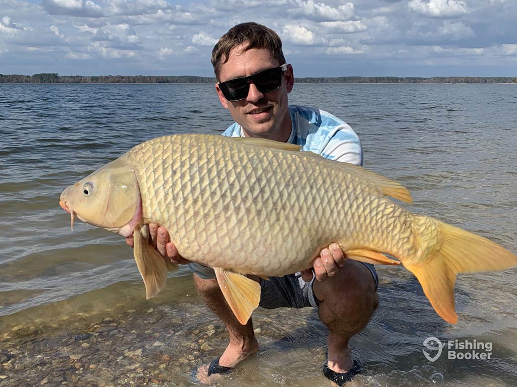
{"type": "Polygon", "coordinates": [[[517,0],[0,0],[0,73],[213,76],[232,26],[295,76],[517,76],[517,0]]]}

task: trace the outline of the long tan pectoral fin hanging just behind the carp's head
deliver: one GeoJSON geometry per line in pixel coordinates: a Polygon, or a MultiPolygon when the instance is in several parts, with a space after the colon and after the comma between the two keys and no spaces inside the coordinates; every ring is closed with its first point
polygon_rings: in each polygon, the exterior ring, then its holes
{"type": "Polygon", "coordinates": [[[136,266],[144,280],[146,298],[149,299],[156,297],[165,286],[168,270],[177,270],[178,265],[170,264],[168,267],[158,251],[149,245],[144,235],[145,230],[135,228],[133,253],[136,266]]]}

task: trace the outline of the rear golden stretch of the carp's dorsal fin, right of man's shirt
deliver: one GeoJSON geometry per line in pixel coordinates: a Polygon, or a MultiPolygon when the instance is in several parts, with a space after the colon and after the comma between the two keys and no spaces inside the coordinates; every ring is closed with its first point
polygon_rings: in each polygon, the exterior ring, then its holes
{"type": "Polygon", "coordinates": [[[378,173],[372,172],[366,168],[359,167],[354,164],[340,163],[334,160],[329,160],[328,158],[313,152],[301,152],[301,155],[302,157],[311,157],[333,163],[334,165],[346,170],[348,173],[359,175],[362,179],[367,179],[371,184],[379,187],[383,195],[389,196],[393,199],[398,199],[405,203],[413,203],[411,193],[407,190],[406,187],[394,180],[385,178],[383,175],[379,175],[378,173]]]}

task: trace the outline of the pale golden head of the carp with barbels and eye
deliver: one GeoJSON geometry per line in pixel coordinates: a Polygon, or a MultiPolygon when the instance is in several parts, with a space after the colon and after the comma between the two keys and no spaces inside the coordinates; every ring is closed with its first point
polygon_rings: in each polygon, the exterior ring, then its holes
{"type": "Polygon", "coordinates": [[[129,236],[142,219],[142,200],[134,169],[116,159],[67,187],[59,205],[83,222],[129,236]]]}

